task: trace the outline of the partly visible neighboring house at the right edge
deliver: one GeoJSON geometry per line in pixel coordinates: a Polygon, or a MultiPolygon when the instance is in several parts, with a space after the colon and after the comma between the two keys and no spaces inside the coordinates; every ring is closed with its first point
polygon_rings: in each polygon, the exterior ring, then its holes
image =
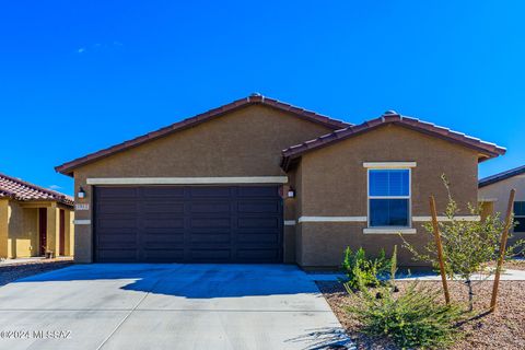
{"type": "Polygon", "coordinates": [[[517,225],[513,229],[511,243],[525,240],[525,165],[480,179],[478,190],[483,214],[499,212],[503,218],[513,188],[516,190],[513,209],[517,225]]]}

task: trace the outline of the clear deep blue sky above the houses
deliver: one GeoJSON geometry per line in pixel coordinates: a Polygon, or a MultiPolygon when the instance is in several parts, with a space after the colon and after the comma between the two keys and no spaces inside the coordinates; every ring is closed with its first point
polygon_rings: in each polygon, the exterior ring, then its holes
{"type": "Polygon", "coordinates": [[[55,165],[260,92],[361,122],[386,109],[525,164],[523,1],[11,1],[0,7],[0,172],[55,165]]]}

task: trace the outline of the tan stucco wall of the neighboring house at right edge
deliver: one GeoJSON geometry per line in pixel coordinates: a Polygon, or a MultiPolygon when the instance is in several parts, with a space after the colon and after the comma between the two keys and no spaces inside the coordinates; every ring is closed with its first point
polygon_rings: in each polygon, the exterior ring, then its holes
{"type": "MultiPolygon", "coordinates": [[[[504,218],[506,213],[506,206],[509,205],[509,195],[512,188],[516,190],[514,200],[525,201],[525,175],[517,175],[479,188],[478,199],[480,201],[492,201],[493,211],[501,213],[501,218],[504,218]]],[[[512,243],[516,240],[525,240],[525,233],[514,233],[514,237],[510,240],[510,242],[512,243]]]]}

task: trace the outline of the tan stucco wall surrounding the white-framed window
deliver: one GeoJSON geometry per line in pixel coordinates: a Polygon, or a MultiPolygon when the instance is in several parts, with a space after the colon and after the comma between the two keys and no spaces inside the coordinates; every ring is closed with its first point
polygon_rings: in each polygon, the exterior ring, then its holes
{"type": "MultiPolygon", "coordinates": [[[[439,212],[446,205],[441,174],[451,182],[454,198],[469,214],[466,203],[476,203],[478,162],[475,151],[398,126],[386,126],[348,139],[301,160],[300,215],[368,217],[368,173],[363,162],[417,162],[411,171],[412,215],[428,217],[429,196],[434,195],[439,212]]],[[[413,264],[395,234],[363,234],[366,223],[303,222],[296,232],[298,261],[305,267],[339,266],[346,246],[360,246],[375,254],[380,248],[399,247],[399,262],[413,264]]],[[[407,240],[421,246],[428,235],[417,233],[407,240]]]]}

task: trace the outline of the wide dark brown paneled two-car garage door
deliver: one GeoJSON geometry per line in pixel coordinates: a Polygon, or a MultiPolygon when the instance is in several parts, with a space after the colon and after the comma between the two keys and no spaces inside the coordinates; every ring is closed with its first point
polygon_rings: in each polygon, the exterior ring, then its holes
{"type": "Polygon", "coordinates": [[[96,187],[95,261],[281,262],[276,186],[96,187]]]}

